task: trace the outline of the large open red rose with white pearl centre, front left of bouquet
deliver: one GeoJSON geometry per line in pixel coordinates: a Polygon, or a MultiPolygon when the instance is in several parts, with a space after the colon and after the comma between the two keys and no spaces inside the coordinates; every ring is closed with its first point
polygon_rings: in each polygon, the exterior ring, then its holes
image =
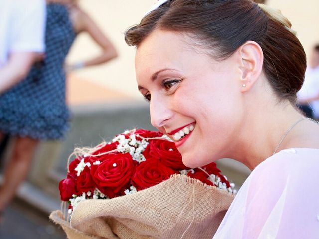
{"type": "Polygon", "coordinates": [[[101,164],[91,165],[91,175],[97,188],[114,198],[129,186],[135,165],[129,153],[108,154],[101,164]]]}

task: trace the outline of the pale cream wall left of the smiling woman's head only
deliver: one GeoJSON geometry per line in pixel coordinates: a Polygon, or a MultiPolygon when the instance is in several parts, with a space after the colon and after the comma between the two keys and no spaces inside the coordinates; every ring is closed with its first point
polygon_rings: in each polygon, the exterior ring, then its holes
{"type": "MultiPolygon", "coordinates": [[[[123,33],[129,26],[140,21],[153,2],[154,0],[80,0],[82,8],[114,43],[119,57],[108,64],[83,69],[75,74],[81,79],[89,79],[100,86],[142,99],[135,82],[135,49],[126,45],[123,33]]],[[[83,33],[76,39],[67,60],[77,62],[98,52],[97,45],[83,33]]]]}

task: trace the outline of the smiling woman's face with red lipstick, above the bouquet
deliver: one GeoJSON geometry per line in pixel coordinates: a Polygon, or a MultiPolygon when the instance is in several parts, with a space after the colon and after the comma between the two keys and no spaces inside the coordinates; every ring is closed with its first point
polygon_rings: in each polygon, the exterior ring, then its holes
{"type": "Polygon", "coordinates": [[[204,51],[184,34],[155,30],[135,59],[151,123],[174,140],[189,167],[229,156],[243,116],[236,54],[215,61],[204,51]]]}

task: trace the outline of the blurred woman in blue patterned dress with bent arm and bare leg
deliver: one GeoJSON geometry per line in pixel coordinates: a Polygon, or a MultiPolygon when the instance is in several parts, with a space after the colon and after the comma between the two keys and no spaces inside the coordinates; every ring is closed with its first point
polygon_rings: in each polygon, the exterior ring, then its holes
{"type": "Polygon", "coordinates": [[[69,128],[64,61],[78,33],[87,32],[102,52],[91,60],[66,66],[68,71],[117,57],[109,39],[76,1],[47,0],[46,3],[44,59],[32,67],[23,81],[0,95],[0,134],[15,136],[0,190],[0,212],[25,179],[39,141],[62,139],[69,128]]]}

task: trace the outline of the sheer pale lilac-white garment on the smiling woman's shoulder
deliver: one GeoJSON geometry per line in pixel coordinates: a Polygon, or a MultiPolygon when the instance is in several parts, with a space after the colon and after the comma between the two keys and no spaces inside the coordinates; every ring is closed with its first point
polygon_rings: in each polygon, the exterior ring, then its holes
{"type": "Polygon", "coordinates": [[[319,149],[282,150],[246,179],[213,239],[319,239],[319,149]]]}

